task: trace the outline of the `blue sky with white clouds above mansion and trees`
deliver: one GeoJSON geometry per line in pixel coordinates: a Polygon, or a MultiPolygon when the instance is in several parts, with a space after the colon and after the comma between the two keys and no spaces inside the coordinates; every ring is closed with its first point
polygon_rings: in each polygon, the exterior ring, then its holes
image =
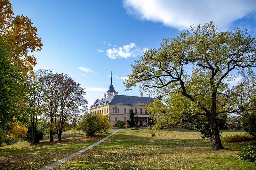
{"type": "MultiPolygon", "coordinates": [[[[145,49],[158,48],[191,24],[213,21],[220,30],[248,29],[256,37],[256,1],[36,1],[11,0],[15,15],[28,16],[38,30],[38,68],[69,74],[86,87],[91,105],[110,84],[125,92],[130,64],[145,49]]],[[[146,96],[144,92],[144,96],[146,96]]]]}

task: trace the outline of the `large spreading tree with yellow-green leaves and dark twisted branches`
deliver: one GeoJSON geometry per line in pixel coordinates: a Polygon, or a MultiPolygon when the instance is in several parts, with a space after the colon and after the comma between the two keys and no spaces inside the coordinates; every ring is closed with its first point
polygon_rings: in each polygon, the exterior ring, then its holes
{"type": "MultiPolygon", "coordinates": [[[[246,31],[219,32],[212,23],[191,26],[172,39],[163,39],[159,49],[144,53],[132,65],[126,90],[140,85],[162,96],[180,93],[192,102],[192,114],[202,113],[210,125],[212,148],[223,148],[216,117],[234,113],[224,107],[229,81],[235,70],[255,67],[256,41],[246,31]],[[191,75],[187,68],[192,69],[191,75]]],[[[170,101],[171,102],[171,101],[170,101]]]]}

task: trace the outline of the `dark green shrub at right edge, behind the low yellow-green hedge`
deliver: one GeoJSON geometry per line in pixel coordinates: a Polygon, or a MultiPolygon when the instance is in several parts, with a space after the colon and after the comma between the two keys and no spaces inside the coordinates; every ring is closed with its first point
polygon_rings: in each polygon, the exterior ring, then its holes
{"type": "Polygon", "coordinates": [[[244,119],[243,128],[246,132],[256,138],[256,114],[252,114],[250,118],[244,119]]]}

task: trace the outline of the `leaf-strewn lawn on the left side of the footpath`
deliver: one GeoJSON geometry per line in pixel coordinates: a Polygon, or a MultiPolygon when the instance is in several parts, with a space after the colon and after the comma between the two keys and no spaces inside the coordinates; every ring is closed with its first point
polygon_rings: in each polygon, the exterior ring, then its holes
{"type": "Polygon", "coordinates": [[[48,142],[47,139],[34,146],[29,146],[28,142],[4,146],[0,148],[0,169],[38,169],[92,145],[109,134],[64,137],[60,142],[48,142]]]}

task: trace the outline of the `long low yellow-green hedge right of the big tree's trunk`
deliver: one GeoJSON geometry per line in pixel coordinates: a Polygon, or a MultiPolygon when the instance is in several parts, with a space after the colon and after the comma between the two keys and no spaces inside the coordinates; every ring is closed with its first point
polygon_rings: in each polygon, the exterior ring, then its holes
{"type": "Polygon", "coordinates": [[[253,140],[253,137],[249,133],[243,133],[243,134],[221,136],[220,140],[222,142],[245,142],[245,141],[253,140]]]}

